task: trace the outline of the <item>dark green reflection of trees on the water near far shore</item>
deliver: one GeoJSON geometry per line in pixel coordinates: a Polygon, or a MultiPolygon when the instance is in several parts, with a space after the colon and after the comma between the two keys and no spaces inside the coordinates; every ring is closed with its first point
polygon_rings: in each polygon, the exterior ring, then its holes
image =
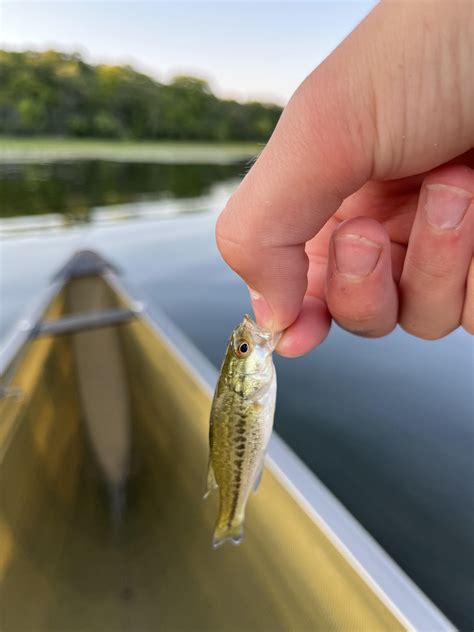
{"type": "Polygon", "coordinates": [[[200,197],[218,182],[241,177],[244,170],[242,163],[0,164],[0,217],[59,213],[63,223],[83,223],[97,206],[200,197]]]}

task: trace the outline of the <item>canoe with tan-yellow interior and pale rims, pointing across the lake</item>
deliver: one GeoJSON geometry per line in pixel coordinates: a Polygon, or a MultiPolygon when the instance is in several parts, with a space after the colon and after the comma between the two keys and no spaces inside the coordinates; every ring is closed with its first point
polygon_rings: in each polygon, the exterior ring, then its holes
{"type": "Polygon", "coordinates": [[[3,632],[454,629],[276,434],[244,541],[212,548],[216,371],[96,253],[0,361],[3,632]]]}

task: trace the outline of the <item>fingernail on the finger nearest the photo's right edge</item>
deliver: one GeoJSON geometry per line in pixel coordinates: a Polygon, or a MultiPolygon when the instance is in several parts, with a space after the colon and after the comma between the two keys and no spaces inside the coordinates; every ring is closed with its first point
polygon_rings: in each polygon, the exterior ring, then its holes
{"type": "Polygon", "coordinates": [[[474,195],[447,184],[427,184],[425,213],[429,224],[439,230],[459,226],[474,195]]]}

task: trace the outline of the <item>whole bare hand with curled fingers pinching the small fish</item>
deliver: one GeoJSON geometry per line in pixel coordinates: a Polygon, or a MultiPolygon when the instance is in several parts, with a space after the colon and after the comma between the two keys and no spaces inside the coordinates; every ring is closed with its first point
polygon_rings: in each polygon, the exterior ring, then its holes
{"type": "Polygon", "coordinates": [[[474,333],[474,3],[383,2],[300,86],[217,224],[257,320],[306,353],[474,333]]]}

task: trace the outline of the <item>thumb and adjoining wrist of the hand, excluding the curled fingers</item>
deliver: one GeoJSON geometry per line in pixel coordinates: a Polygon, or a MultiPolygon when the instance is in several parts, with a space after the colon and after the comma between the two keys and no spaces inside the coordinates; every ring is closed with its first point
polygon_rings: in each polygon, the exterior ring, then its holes
{"type": "Polygon", "coordinates": [[[300,313],[305,244],[345,197],[469,149],[474,88],[453,77],[470,76],[473,7],[382,3],[293,95],[217,223],[219,250],[252,289],[261,324],[283,330],[300,313]]]}

